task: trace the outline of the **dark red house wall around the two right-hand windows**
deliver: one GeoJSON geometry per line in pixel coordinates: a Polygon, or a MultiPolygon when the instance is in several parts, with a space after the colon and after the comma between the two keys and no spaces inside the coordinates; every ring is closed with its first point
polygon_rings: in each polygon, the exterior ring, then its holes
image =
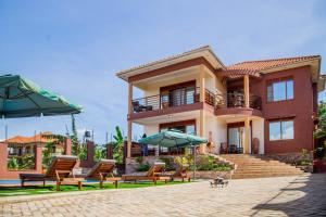
{"type": "MultiPolygon", "coordinates": [[[[313,149],[313,110],[316,94],[313,90],[310,67],[298,67],[265,74],[262,80],[252,82],[254,92],[262,97],[263,116],[265,117],[265,153],[293,153],[302,149],[313,149]],[[281,77],[293,78],[293,100],[267,103],[267,82],[281,77]],[[269,141],[268,119],[293,116],[294,139],[269,141]]],[[[314,86],[316,88],[316,86],[314,86]]]]}

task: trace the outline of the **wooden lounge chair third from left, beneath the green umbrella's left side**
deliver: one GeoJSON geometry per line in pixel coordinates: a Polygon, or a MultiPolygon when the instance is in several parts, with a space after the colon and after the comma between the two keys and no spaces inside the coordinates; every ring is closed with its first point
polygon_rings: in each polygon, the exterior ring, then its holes
{"type": "Polygon", "coordinates": [[[149,180],[156,184],[156,181],[165,181],[165,183],[171,180],[170,176],[163,175],[165,163],[155,162],[150,169],[145,175],[123,175],[122,180],[124,181],[135,181],[138,180],[149,180]]]}

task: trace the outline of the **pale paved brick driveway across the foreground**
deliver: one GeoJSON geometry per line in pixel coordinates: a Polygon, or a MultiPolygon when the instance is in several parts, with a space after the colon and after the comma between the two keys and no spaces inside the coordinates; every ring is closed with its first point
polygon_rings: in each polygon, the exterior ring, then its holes
{"type": "Polygon", "coordinates": [[[326,216],[326,175],[65,194],[0,204],[0,216],[326,216]]]}

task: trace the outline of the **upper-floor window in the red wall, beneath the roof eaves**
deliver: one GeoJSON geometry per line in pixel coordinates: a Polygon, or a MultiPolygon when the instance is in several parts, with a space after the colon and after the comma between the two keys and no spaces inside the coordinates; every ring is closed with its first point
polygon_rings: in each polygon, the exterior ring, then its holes
{"type": "Polygon", "coordinates": [[[267,101],[277,102],[293,99],[293,80],[272,82],[267,86],[267,101]]]}

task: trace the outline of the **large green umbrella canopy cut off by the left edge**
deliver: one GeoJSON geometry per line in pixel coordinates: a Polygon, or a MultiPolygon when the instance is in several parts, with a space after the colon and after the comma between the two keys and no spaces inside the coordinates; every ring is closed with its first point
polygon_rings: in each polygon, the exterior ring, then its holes
{"type": "Polygon", "coordinates": [[[78,114],[83,107],[20,75],[0,76],[0,116],[4,118],[78,114]]]}

